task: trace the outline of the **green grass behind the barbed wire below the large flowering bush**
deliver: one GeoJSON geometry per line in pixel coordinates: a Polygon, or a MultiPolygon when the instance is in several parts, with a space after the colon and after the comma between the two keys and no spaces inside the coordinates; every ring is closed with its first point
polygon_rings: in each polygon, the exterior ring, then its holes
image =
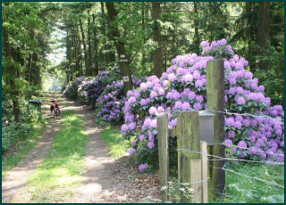
{"type": "MultiPolygon", "coordinates": [[[[284,166],[270,164],[228,164],[231,170],[284,185],[284,166]]],[[[282,187],[226,172],[225,196],[219,203],[283,203],[282,187]]]]}

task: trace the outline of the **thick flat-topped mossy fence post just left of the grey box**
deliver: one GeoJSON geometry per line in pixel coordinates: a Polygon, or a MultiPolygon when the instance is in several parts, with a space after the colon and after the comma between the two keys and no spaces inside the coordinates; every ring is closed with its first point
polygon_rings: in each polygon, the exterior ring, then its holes
{"type": "MultiPolygon", "coordinates": [[[[195,180],[194,178],[191,178],[191,173],[197,172],[199,175],[201,173],[201,165],[198,165],[198,160],[200,159],[198,111],[179,111],[176,131],[178,135],[179,149],[178,176],[180,187],[182,187],[181,184],[189,184],[192,180],[195,180]],[[191,150],[193,152],[186,152],[184,149],[191,150]]],[[[195,185],[190,187],[196,189],[197,187],[194,186],[195,185]]],[[[199,190],[194,191],[193,201],[200,201],[201,194],[199,195],[199,190]]],[[[182,196],[181,202],[191,202],[191,199],[187,199],[182,196]]]]}

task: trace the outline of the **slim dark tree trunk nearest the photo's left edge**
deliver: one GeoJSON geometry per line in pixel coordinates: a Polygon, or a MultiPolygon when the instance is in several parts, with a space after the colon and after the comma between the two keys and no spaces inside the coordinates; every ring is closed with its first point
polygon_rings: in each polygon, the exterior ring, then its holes
{"type": "MultiPolygon", "coordinates": [[[[9,43],[8,31],[3,26],[2,26],[2,37],[4,40],[5,57],[9,58],[11,60],[11,62],[13,62],[14,58],[13,58],[13,53],[12,53],[10,43],[9,43]]],[[[18,91],[17,86],[15,85],[15,81],[14,81],[14,78],[17,77],[17,70],[13,66],[13,63],[11,63],[11,65],[7,68],[7,72],[9,72],[9,74],[11,75],[11,77],[9,77],[8,82],[9,82],[9,85],[11,86],[11,98],[12,98],[12,102],[13,102],[13,116],[14,116],[15,121],[19,122],[20,121],[20,113],[21,113],[20,104],[18,101],[19,91],[18,91]]]]}

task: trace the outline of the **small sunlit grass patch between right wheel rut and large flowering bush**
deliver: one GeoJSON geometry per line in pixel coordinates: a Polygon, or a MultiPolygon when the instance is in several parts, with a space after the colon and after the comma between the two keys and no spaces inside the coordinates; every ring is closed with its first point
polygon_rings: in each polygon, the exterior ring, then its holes
{"type": "Polygon", "coordinates": [[[109,153],[115,158],[121,157],[127,152],[128,148],[130,148],[129,141],[122,139],[122,135],[118,129],[107,126],[100,132],[100,135],[104,140],[109,153]]]}

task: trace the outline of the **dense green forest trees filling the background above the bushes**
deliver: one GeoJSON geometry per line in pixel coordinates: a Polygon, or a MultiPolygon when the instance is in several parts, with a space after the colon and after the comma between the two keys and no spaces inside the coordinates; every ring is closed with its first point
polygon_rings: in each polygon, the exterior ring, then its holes
{"type": "Polygon", "coordinates": [[[273,105],[284,104],[283,37],[282,2],[2,3],[2,115],[21,121],[23,100],[50,75],[68,83],[116,66],[129,77],[126,94],[131,75],[160,77],[175,56],[221,38],[248,60],[273,105]],[[58,47],[55,65],[48,54],[58,47]]]}

